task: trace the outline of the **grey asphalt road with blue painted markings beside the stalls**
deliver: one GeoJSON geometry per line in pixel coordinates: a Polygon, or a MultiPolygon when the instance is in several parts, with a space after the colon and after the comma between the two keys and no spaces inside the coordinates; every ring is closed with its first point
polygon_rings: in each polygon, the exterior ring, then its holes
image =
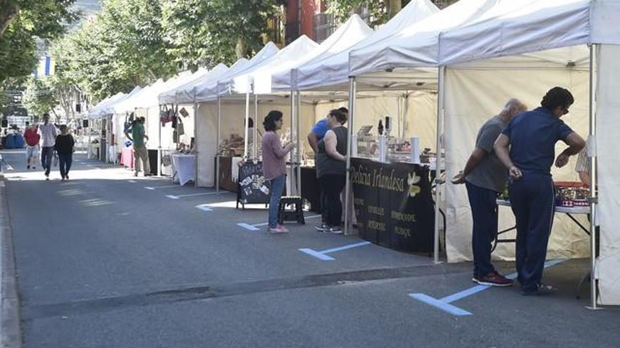
{"type": "Polygon", "coordinates": [[[620,309],[585,309],[587,286],[575,298],[587,260],[547,269],[561,290],[551,297],[476,292],[471,264],[377,245],[331,261],[300,252],[363,242],[314,231],[311,213],[272,236],[260,225],[266,211],[235,210],[232,193],[135,179],[80,155],[70,181],[57,172],[44,181],[23,153],[0,153],[13,167],[6,195],[25,347],[620,346],[620,309]],[[450,304],[467,316],[409,296],[463,290],[471,295],[450,304]]]}

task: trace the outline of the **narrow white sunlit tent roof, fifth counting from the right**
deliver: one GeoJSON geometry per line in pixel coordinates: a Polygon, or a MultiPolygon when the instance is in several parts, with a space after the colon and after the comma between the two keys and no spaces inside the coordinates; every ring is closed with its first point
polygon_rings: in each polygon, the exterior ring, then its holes
{"type": "Polygon", "coordinates": [[[241,94],[251,92],[254,77],[261,74],[261,72],[272,70],[275,67],[279,67],[283,64],[287,64],[287,62],[296,60],[317,47],[318,44],[309,39],[309,37],[306,37],[306,35],[298,37],[295,41],[285,46],[284,49],[276,53],[273,58],[264,60],[263,63],[258,66],[248,69],[249,71],[241,72],[239,75],[235,76],[233,85],[230,86],[230,91],[241,94]]]}

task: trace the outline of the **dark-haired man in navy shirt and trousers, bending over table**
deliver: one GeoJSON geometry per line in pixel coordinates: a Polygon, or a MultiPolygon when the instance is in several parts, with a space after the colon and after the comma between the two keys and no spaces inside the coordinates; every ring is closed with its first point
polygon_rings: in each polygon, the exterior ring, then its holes
{"type": "Polygon", "coordinates": [[[523,295],[554,292],[541,280],[555,207],[551,176],[555,143],[561,140],[569,145],[555,159],[558,168],[585,146],[583,138],[560,120],[573,102],[571,92],[554,87],[547,91],[540,108],[515,117],[495,141],[495,154],[512,179],[509,193],[516,217],[516,271],[523,295]]]}

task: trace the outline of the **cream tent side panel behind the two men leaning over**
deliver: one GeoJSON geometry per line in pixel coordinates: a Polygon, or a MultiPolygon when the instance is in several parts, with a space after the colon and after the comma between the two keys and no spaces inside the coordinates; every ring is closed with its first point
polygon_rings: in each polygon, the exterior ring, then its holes
{"type": "MultiPolygon", "coordinates": [[[[548,89],[564,86],[575,96],[569,115],[562,120],[578,134],[588,134],[588,71],[580,70],[458,70],[447,69],[445,105],[446,176],[452,178],[465,167],[482,124],[497,115],[509,98],[519,98],[528,108],[537,108],[548,89]]],[[[558,142],[556,153],[566,148],[558,142]]],[[[555,181],[579,181],[576,156],[562,169],[552,168],[555,181]]],[[[446,187],[446,249],[448,262],[471,260],[471,210],[464,185],[446,187]]],[[[577,219],[587,226],[583,216],[577,219]]],[[[499,230],[514,226],[509,207],[500,207],[499,230]]],[[[502,235],[514,238],[515,231],[502,235]]],[[[566,214],[555,214],[548,259],[588,256],[588,235],[566,214]]],[[[493,253],[500,259],[514,259],[514,243],[500,243],[493,253]]]]}

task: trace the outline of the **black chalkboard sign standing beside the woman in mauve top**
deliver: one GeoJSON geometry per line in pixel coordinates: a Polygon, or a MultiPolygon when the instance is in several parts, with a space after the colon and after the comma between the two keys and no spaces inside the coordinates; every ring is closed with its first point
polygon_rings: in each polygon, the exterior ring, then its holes
{"type": "Polygon", "coordinates": [[[239,168],[237,203],[266,204],[269,202],[271,183],[263,176],[263,162],[245,162],[239,168]]]}

